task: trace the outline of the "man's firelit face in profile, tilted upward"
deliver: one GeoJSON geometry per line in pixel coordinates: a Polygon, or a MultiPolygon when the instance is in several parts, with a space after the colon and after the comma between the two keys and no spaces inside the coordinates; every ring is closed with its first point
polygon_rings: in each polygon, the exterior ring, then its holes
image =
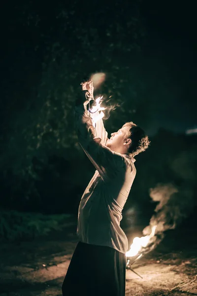
{"type": "Polygon", "coordinates": [[[127,131],[128,127],[122,127],[117,132],[112,133],[111,138],[106,143],[106,147],[112,151],[119,152],[127,139],[127,131]]]}

